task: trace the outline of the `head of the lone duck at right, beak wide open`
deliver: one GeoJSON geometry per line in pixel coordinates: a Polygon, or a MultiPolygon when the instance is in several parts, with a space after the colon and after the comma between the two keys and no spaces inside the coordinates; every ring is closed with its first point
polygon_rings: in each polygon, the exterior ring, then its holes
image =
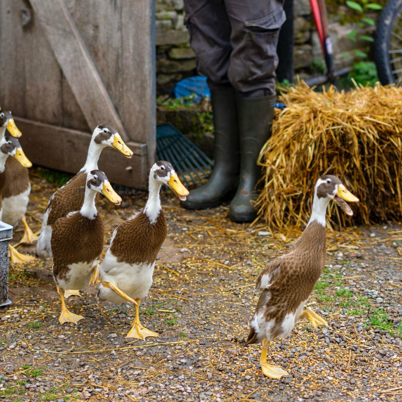
{"type": "MultiPolygon", "coordinates": [[[[349,216],[353,216],[353,211],[347,202],[359,202],[342,182],[332,174],[326,174],[317,180],[314,198],[334,200],[336,204],[349,216]],[[347,201],[347,202],[346,202],[347,201]]],[[[327,203],[328,203],[327,201],[327,203]]]]}

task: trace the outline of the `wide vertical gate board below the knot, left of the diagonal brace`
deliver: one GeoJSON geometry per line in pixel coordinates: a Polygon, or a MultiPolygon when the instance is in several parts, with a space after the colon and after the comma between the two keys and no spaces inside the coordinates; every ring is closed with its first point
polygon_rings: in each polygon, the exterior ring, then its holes
{"type": "Polygon", "coordinates": [[[63,117],[62,70],[32,8],[27,7],[25,12],[30,18],[25,19],[20,43],[20,56],[25,59],[24,117],[60,125],[63,117]]]}

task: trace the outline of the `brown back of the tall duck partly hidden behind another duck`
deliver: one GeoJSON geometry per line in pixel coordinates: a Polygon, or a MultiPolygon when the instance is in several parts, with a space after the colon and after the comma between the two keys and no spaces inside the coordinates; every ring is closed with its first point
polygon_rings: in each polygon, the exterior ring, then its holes
{"type": "MultiPolygon", "coordinates": [[[[57,219],[66,217],[69,212],[78,211],[84,203],[86,174],[78,172],[68,183],[58,189],[50,198],[46,211],[50,209],[47,224],[52,226],[57,219]]],[[[96,193],[95,203],[99,199],[96,193]]]]}

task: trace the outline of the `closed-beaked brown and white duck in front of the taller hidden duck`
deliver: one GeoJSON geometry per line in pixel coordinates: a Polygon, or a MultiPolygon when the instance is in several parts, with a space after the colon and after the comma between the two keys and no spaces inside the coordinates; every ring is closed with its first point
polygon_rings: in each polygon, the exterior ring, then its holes
{"type": "Polygon", "coordinates": [[[88,285],[94,266],[99,262],[103,250],[104,228],[96,210],[96,195],[102,193],[112,203],[117,205],[121,203],[120,196],[112,189],[105,173],[92,170],[85,176],[86,186],[81,209],[57,219],[51,234],[53,277],[62,301],[60,324],[64,322],[77,324],[84,318],[67,310],[64,291],[79,290],[88,285]]]}

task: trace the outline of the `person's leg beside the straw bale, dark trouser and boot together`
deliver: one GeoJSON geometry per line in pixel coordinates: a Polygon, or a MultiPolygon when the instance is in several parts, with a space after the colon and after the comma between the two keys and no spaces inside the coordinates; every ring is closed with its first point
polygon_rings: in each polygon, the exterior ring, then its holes
{"type": "Polygon", "coordinates": [[[260,178],[258,154],[271,135],[275,104],[276,47],[285,21],[278,0],[225,0],[232,25],[228,77],[236,89],[240,136],[240,184],[230,204],[230,219],[250,222],[256,217],[252,200],[260,178]]]}

